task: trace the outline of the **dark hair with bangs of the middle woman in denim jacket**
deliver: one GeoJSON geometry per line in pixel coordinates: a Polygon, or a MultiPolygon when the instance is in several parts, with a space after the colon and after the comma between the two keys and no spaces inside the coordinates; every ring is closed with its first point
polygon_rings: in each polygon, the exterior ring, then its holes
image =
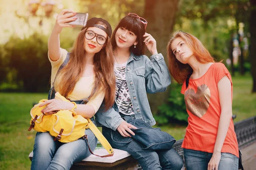
{"type": "Polygon", "coordinates": [[[130,52],[132,52],[134,55],[143,55],[145,54],[145,43],[144,41],[144,37],[143,35],[145,34],[145,29],[144,29],[144,25],[143,23],[139,20],[138,17],[133,17],[130,15],[127,15],[125,17],[123,17],[118,25],[116,26],[116,28],[114,29],[112,36],[111,36],[111,44],[113,46],[113,49],[116,48],[116,31],[117,29],[119,29],[120,27],[123,27],[125,29],[128,29],[129,31],[133,32],[135,35],[137,35],[137,39],[136,41],[138,42],[138,44],[136,45],[136,48],[134,48],[134,46],[130,47],[130,52]]]}

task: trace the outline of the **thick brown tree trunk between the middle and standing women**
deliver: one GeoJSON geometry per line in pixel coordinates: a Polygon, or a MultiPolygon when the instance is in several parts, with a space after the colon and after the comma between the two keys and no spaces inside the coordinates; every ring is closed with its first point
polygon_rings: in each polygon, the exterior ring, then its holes
{"type": "MultiPolygon", "coordinates": [[[[157,41],[157,52],[162,53],[167,62],[166,46],[172,35],[179,0],[145,0],[143,17],[148,21],[146,32],[157,41]]],[[[166,103],[169,90],[164,93],[148,95],[152,113],[157,112],[157,107],[166,103]]]]}

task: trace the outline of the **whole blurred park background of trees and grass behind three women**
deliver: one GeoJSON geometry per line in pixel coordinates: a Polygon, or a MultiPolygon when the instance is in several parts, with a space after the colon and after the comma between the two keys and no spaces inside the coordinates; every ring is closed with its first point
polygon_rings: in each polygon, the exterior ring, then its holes
{"type": "MultiPolygon", "coordinates": [[[[174,32],[195,35],[230,70],[234,121],[256,115],[256,1],[0,0],[1,170],[30,168],[35,131],[27,131],[29,111],[33,103],[47,98],[47,40],[61,9],[103,17],[112,29],[129,12],[139,14],[148,21],[146,32],[157,40],[166,62],[166,45],[174,32]]],[[[80,29],[63,29],[61,47],[70,49],[80,29]]],[[[172,80],[166,92],[148,95],[155,127],[177,140],[184,137],[188,116],[180,88],[172,80]]]]}

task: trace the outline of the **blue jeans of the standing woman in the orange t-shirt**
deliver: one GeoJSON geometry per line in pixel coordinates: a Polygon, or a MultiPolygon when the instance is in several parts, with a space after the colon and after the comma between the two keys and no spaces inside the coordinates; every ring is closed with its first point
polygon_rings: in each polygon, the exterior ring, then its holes
{"type": "MultiPolygon", "coordinates": [[[[212,153],[183,149],[187,170],[207,170],[212,153]]],[[[221,153],[218,170],[238,170],[238,157],[231,153],[221,153]]]]}

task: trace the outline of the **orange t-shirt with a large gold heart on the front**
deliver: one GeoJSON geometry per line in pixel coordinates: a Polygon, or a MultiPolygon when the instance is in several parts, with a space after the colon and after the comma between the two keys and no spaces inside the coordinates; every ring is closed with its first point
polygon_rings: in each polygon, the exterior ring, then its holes
{"type": "MultiPolygon", "coordinates": [[[[231,75],[223,63],[213,63],[201,78],[189,79],[188,88],[186,81],[183,83],[181,93],[184,94],[189,124],[181,147],[213,153],[221,115],[217,85],[225,75],[230,79],[233,93],[231,75]]],[[[239,157],[232,119],[221,152],[239,157]]]]}

